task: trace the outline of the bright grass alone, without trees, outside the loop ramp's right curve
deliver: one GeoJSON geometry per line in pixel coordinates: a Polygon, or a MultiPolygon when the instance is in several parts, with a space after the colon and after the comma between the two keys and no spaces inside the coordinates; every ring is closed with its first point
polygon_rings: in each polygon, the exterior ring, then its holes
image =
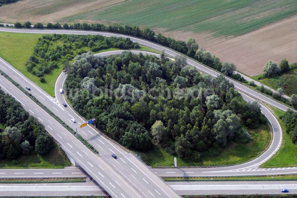
{"type": "Polygon", "coordinates": [[[271,168],[271,167],[294,167],[297,166],[297,149],[294,143],[292,142],[290,135],[286,132],[285,124],[279,118],[279,116],[285,114],[284,111],[281,111],[277,108],[270,107],[271,110],[277,117],[279,124],[282,127],[283,138],[282,146],[279,148],[277,153],[271,157],[267,162],[265,162],[261,167],[271,168]]]}

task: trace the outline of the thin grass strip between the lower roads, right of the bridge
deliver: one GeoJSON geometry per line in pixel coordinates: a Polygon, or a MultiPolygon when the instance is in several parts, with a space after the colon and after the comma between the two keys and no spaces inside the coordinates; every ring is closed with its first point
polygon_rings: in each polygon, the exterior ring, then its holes
{"type": "Polygon", "coordinates": [[[247,176],[247,177],[163,177],[165,181],[281,181],[297,180],[297,175],[247,176]]]}

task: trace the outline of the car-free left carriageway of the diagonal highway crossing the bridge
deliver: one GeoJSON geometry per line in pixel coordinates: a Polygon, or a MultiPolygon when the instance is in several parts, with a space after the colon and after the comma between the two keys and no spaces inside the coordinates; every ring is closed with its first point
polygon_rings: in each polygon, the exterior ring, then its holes
{"type": "Polygon", "coordinates": [[[0,76],[1,89],[16,98],[29,112],[45,125],[46,130],[72,156],[88,175],[102,186],[112,197],[143,197],[133,186],[116,172],[104,157],[95,155],[80,140],[66,130],[59,122],[38,106],[4,76],[0,76]]]}

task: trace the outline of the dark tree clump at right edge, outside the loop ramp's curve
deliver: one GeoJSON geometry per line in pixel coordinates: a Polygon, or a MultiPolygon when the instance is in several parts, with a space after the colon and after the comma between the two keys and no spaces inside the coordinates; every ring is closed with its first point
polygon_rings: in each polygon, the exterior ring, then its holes
{"type": "Polygon", "coordinates": [[[287,133],[290,134],[293,143],[297,143],[297,113],[288,109],[281,119],[285,123],[287,133]]]}

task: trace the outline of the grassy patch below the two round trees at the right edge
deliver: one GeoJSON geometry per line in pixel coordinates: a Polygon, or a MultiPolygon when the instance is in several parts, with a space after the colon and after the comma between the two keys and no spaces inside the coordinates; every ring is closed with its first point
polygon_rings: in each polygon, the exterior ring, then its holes
{"type": "Polygon", "coordinates": [[[279,76],[258,79],[262,75],[252,76],[251,78],[261,82],[262,84],[277,90],[281,87],[284,90],[285,95],[297,94],[297,69],[290,70],[279,76]]]}

